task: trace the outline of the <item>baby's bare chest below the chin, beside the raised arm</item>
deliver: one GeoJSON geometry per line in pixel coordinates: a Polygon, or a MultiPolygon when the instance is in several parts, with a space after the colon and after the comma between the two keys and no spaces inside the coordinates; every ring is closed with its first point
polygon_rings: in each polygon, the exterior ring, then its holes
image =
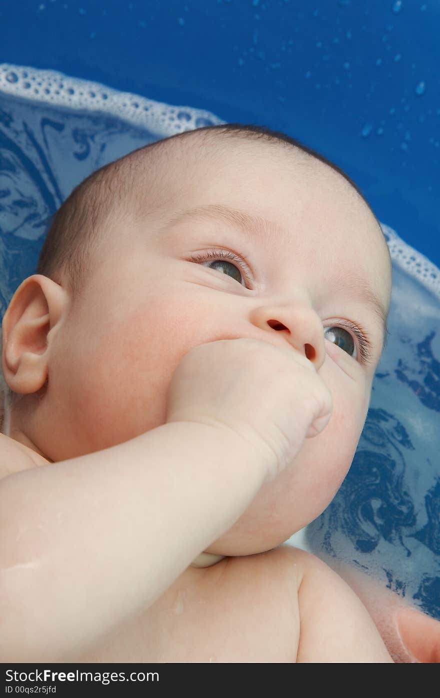
{"type": "Polygon", "coordinates": [[[252,584],[248,575],[231,576],[234,583],[225,578],[188,586],[178,580],[152,607],[77,661],[295,662],[299,622],[293,585],[288,591],[276,579],[252,584]]]}

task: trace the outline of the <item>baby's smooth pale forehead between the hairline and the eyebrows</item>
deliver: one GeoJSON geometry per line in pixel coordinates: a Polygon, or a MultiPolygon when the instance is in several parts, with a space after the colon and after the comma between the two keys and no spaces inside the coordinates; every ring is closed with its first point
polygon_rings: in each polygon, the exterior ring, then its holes
{"type": "Polygon", "coordinates": [[[170,172],[177,196],[171,206],[167,200],[165,217],[182,202],[184,209],[222,203],[270,220],[273,244],[286,242],[288,232],[296,246],[348,246],[384,257],[381,230],[363,198],[341,174],[297,148],[234,138],[199,147],[189,140],[183,157],[177,155],[184,170],[176,162],[170,172]]]}

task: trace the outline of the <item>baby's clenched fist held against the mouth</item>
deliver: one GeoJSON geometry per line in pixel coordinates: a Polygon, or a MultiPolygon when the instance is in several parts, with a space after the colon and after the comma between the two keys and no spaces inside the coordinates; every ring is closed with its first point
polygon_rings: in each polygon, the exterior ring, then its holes
{"type": "Polygon", "coordinates": [[[220,339],[181,359],[169,384],[167,422],[233,431],[255,450],[272,480],[294,460],[305,438],[324,429],[332,409],[328,387],[293,347],[220,339]]]}

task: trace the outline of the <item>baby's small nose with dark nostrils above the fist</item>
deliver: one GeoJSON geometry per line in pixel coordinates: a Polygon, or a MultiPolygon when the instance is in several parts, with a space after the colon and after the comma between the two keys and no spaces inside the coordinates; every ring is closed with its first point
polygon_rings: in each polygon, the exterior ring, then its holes
{"type": "Polygon", "coordinates": [[[317,371],[324,364],[324,328],[319,316],[310,306],[261,306],[255,309],[252,322],[267,332],[282,332],[291,346],[305,355],[317,371]]]}

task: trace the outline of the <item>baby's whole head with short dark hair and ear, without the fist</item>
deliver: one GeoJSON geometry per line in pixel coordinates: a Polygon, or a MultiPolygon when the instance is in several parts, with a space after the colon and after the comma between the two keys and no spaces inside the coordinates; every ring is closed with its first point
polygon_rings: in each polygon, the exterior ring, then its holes
{"type": "Polygon", "coordinates": [[[390,294],[379,223],[324,158],[237,124],[167,138],[98,170],[54,217],[3,319],[4,431],[50,461],[95,452],[165,422],[192,347],[273,332],[311,345],[330,422],[208,550],[271,549],[347,474],[390,294]]]}

